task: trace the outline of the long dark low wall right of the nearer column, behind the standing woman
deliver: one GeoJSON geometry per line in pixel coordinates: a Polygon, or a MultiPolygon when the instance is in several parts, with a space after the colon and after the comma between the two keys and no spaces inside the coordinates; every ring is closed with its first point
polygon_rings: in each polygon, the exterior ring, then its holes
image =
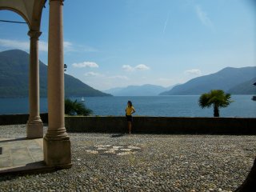
{"type": "MultiPolygon", "coordinates": [[[[68,132],[127,133],[125,117],[66,117],[68,132]]],[[[256,134],[256,118],[134,117],[138,134],[256,134]]]]}

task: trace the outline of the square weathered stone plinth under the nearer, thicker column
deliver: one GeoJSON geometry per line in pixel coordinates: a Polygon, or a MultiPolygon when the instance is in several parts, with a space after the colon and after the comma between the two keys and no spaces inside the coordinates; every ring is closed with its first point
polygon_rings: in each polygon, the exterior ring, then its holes
{"type": "Polygon", "coordinates": [[[70,138],[64,140],[52,140],[44,137],[43,155],[47,166],[70,168],[72,166],[70,138]]]}

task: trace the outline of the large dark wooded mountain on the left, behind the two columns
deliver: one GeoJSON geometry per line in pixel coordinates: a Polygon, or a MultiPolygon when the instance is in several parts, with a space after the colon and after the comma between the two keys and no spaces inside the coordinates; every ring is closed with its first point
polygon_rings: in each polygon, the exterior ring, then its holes
{"type": "MultiPolygon", "coordinates": [[[[0,52],[0,98],[27,97],[30,55],[23,50],[0,52]]],[[[64,70],[64,68],[63,68],[64,70]]],[[[39,62],[40,96],[47,96],[47,66],[39,62]]],[[[65,96],[110,96],[87,86],[77,78],[64,74],[65,96]]]]}

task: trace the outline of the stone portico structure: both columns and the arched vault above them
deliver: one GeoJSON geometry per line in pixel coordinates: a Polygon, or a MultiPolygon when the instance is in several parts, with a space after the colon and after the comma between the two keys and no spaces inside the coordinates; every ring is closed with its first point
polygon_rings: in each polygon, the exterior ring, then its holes
{"type": "MultiPolygon", "coordinates": [[[[29,25],[29,103],[30,116],[26,123],[26,138],[43,138],[42,120],[39,114],[39,58],[38,38],[42,8],[46,0],[0,2],[0,10],[13,10],[25,18],[29,25]]],[[[48,108],[49,128],[43,139],[43,154],[46,166],[70,167],[70,139],[64,123],[64,71],[62,6],[63,0],[49,1],[49,59],[48,59],[48,108]],[[58,37],[58,38],[56,38],[58,37]],[[56,91],[59,90],[59,91],[56,91]],[[62,151],[58,149],[62,148],[62,151]]]]}

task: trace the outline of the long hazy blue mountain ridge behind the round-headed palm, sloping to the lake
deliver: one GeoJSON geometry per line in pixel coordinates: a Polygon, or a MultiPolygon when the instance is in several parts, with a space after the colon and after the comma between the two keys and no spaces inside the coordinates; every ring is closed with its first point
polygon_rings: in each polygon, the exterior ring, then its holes
{"type": "MultiPolygon", "coordinates": [[[[193,78],[182,85],[174,86],[173,89],[163,92],[161,95],[197,95],[209,92],[210,90],[224,90],[228,92],[232,87],[248,83],[253,78],[256,78],[256,66],[242,68],[226,67],[215,74],[193,78]]],[[[246,92],[240,92],[240,94],[246,94],[246,92]]]]}

